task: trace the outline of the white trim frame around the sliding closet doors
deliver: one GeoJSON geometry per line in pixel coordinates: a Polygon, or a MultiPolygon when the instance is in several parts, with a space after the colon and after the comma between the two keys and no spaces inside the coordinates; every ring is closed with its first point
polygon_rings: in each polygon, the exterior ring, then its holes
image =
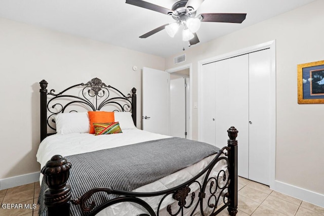
{"type": "MultiPolygon", "coordinates": [[[[230,53],[218,55],[212,58],[198,61],[198,108],[201,105],[201,70],[204,64],[221,61],[224,59],[245,55],[252,52],[270,48],[270,179],[269,186],[273,188],[275,185],[275,146],[276,146],[276,51],[275,40],[265,42],[263,44],[255,45],[252,47],[244,48],[241,50],[233,51],[230,53]]],[[[201,109],[198,110],[198,140],[201,140],[201,109]]],[[[234,125],[235,126],[235,125],[234,125]]],[[[239,131],[239,128],[238,128],[239,131]]],[[[239,144],[238,144],[239,146],[239,144]]]]}

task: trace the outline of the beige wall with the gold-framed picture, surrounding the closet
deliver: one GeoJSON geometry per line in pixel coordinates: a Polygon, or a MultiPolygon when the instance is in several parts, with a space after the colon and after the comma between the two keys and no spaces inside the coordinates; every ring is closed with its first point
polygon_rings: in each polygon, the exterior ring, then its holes
{"type": "MultiPolygon", "coordinates": [[[[276,177],[324,195],[324,104],[297,103],[297,64],[324,60],[324,1],[279,15],[262,23],[186,50],[184,64],[193,64],[193,101],[197,102],[197,62],[276,40],[276,177]],[[317,169],[317,170],[315,170],[317,169]]],[[[249,15],[247,16],[247,19],[249,15]]],[[[173,58],[166,68],[175,67],[173,58]]],[[[176,66],[179,66],[176,65],[176,66]]],[[[193,109],[193,139],[197,139],[193,109]]],[[[238,128],[239,129],[239,128],[238,128]]]]}

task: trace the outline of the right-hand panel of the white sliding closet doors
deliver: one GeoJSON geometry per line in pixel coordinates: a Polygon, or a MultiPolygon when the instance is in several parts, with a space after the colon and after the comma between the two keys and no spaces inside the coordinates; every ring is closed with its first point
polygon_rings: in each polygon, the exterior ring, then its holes
{"type": "Polygon", "coordinates": [[[270,49],[249,55],[249,179],[269,185],[270,49]]]}

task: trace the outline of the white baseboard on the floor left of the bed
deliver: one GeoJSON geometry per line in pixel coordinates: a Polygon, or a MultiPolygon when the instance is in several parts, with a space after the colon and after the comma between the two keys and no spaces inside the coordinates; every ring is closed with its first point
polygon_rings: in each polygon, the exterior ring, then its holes
{"type": "Polygon", "coordinates": [[[33,172],[30,174],[15,176],[7,179],[0,179],[0,190],[26,185],[38,181],[39,181],[39,172],[33,172]]]}

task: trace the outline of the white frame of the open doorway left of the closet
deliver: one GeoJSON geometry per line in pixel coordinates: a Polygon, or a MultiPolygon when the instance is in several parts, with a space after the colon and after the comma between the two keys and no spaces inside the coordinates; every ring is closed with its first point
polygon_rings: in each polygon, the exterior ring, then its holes
{"type": "MultiPolygon", "coordinates": [[[[192,140],[192,63],[170,68],[166,70],[166,72],[173,73],[187,68],[189,68],[189,113],[188,113],[189,114],[189,129],[188,129],[189,135],[187,136],[187,139],[192,140]]],[[[169,101],[170,101],[170,94],[169,94],[169,101]]],[[[169,103],[169,110],[170,110],[170,103],[169,103]]]]}

